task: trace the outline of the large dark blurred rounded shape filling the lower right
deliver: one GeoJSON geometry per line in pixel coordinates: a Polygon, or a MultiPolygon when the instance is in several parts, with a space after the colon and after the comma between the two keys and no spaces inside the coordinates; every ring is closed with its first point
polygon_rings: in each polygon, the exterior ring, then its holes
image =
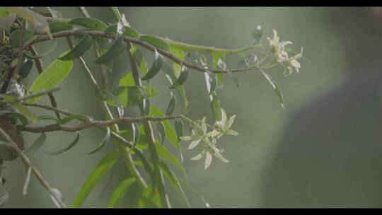
{"type": "MultiPolygon", "coordinates": [[[[382,8],[365,11],[382,27],[382,8]]],[[[263,178],[262,206],[382,206],[381,79],[382,64],[359,69],[294,112],[263,178]]]]}

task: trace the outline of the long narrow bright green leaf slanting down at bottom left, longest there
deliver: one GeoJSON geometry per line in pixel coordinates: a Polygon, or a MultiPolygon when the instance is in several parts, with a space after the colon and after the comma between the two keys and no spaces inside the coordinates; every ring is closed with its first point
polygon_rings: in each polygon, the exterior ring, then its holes
{"type": "Polygon", "coordinates": [[[86,182],[81,187],[81,190],[77,194],[76,199],[74,199],[72,207],[81,207],[86,197],[88,197],[88,195],[91,193],[94,187],[98,185],[98,182],[100,182],[100,180],[105,176],[105,174],[108,173],[108,170],[112,168],[119,156],[119,151],[111,151],[100,160],[100,163],[98,163],[96,168],[94,168],[94,170],[88,176],[86,182]]]}

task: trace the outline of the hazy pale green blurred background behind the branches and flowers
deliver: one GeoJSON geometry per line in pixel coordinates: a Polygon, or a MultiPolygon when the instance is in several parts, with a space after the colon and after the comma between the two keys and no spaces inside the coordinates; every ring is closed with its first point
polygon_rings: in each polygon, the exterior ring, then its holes
{"type": "MultiPolygon", "coordinates": [[[[64,18],[79,17],[77,8],[59,8],[64,18]]],[[[37,8],[45,10],[45,8],[37,8]]],[[[110,8],[88,8],[91,16],[112,23],[115,18],[110,8]]],[[[282,75],[282,68],[269,70],[279,86],[282,87],[286,112],[279,105],[277,95],[270,84],[258,72],[240,75],[241,86],[236,88],[232,79],[226,77],[224,88],[218,91],[221,106],[228,116],[236,114],[233,129],[239,136],[224,136],[219,145],[224,148],[224,156],[231,163],[221,163],[214,159],[212,166],[204,170],[204,162],[191,161],[197,150],[186,151],[184,165],[188,170],[189,182],[207,199],[212,207],[261,207],[261,180],[267,164],[272,161],[277,140],[283,132],[289,115],[311,100],[315,100],[352,76],[357,69],[370,62],[381,59],[381,33],[366,8],[120,8],[134,28],[141,33],[169,37],[173,40],[198,45],[236,48],[250,45],[251,35],[256,25],[262,25],[265,37],[272,37],[276,29],[282,40],[291,40],[311,62],[301,60],[301,71],[288,77],[282,75]]],[[[263,37],[262,42],[265,43],[263,37]]],[[[64,39],[54,52],[43,59],[45,66],[59,54],[68,49],[64,39]]],[[[37,46],[46,50],[49,42],[37,46]]],[[[95,59],[88,52],[86,59],[95,59]]],[[[122,54],[115,62],[115,71],[110,74],[112,86],[129,71],[127,54],[122,54]]],[[[227,57],[228,68],[236,67],[238,57],[227,57]]],[[[99,78],[99,68],[89,64],[99,78]]],[[[29,84],[35,79],[36,71],[30,75],[29,84]]],[[[98,79],[99,80],[99,79],[98,79]]],[[[159,75],[153,81],[160,93],[154,103],[166,108],[169,99],[168,81],[159,75]]],[[[192,72],[185,84],[191,101],[189,117],[192,119],[211,115],[204,75],[192,72]]],[[[80,114],[93,115],[100,119],[96,95],[83,71],[75,62],[75,67],[62,83],[62,90],[55,93],[59,108],[80,114]]],[[[49,103],[44,98],[41,103],[49,103]]],[[[45,114],[33,109],[37,114],[45,114]]],[[[137,108],[127,108],[127,115],[137,115],[137,108]]],[[[211,117],[209,117],[211,120],[211,117]]],[[[26,144],[32,143],[37,135],[25,133],[26,144]]],[[[81,155],[95,147],[103,134],[91,129],[82,132],[80,143],[74,149],[59,156],[49,156],[42,151],[62,149],[74,139],[74,134],[59,132],[49,134],[41,151],[30,155],[32,162],[42,175],[57,187],[70,205],[81,188],[87,175],[98,163],[103,153],[81,155]]],[[[173,151],[173,146],[165,144],[173,151]]],[[[177,154],[178,156],[178,154],[177,154]]],[[[33,178],[29,193],[22,195],[25,172],[21,161],[6,164],[6,187],[10,193],[7,207],[54,207],[49,194],[33,178]]],[[[124,167],[118,163],[105,188],[108,178],[97,187],[86,200],[84,207],[105,207],[112,189],[125,177],[124,167]]],[[[172,190],[169,188],[168,190],[172,190]]],[[[185,188],[193,207],[204,207],[200,199],[185,188]]],[[[129,192],[134,195],[134,190],[129,192]]],[[[183,200],[175,191],[170,191],[174,207],[185,207],[183,200]]],[[[124,204],[129,206],[129,201],[124,204]]],[[[131,204],[131,203],[130,203],[131,204]]]]}

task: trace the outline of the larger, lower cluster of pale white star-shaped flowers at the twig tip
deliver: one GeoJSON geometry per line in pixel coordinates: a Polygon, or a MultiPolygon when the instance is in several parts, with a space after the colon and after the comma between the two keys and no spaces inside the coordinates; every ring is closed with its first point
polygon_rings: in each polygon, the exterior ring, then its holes
{"type": "Polygon", "coordinates": [[[204,117],[202,121],[192,124],[192,134],[190,136],[180,137],[182,140],[191,141],[191,144],[187,149],[194,149],[202,142],[202,152],[191,158],[191,160],[197,161],[205,156],[204,169],[207,169],[211,164],[212,156],[215,156],[224,163],[229,163],[226,158],[221,156],[224,149],[218,149],[216,147],[216,139],[219,139],[224,134],[238,135],[238,132],[229,129],[233,124],[235,117],[236,115],[233,115],[227,120],[226,112],[221,108],[221,120],[215,122],[212,132],[207,132],[206,117],[204,117]]]}

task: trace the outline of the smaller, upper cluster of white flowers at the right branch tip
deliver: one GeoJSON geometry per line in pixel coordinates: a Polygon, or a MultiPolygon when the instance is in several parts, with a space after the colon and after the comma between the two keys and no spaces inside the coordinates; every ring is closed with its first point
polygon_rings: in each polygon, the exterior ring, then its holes
{"type": "Polygon", "coordinates": [[[302,57],[303,48],[301,47],[301,52],[299,54],[294,55],[293,57],[288,57],[288,52],[285,50],[287,45],[293,44],[291,41],[283,41],[279,42],[280,37],[277,35],[277,31],[273,29],[273,38],[267,37],[267,40],[270,42],[270,46],[272,47],[272,53],[276,58],[277,63],[282,64],[284,66],[285,71],[284,75],[289,76],[292,74],[293,69],[296,72],[299,72],[301,68],[301,64],[297,61],[302,57]]]}

